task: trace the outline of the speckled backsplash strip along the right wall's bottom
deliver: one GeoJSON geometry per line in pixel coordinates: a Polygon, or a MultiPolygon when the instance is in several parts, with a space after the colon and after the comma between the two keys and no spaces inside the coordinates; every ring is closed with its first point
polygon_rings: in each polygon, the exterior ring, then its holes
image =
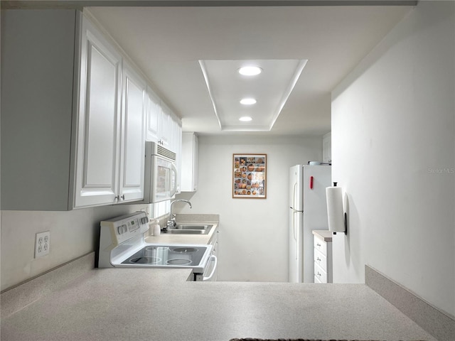
{"type": "Polygon", "coordinates": [[[439,341],[455,340],[455,318],[365,265],[365,284],[439,341]]]}

